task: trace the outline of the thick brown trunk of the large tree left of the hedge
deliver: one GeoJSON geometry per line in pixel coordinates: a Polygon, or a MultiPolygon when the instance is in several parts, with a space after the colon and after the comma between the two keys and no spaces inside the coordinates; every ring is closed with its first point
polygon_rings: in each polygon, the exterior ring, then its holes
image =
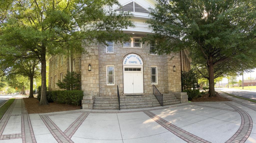
{"type": "Polygon", "coordinates": [[[41,99],[40,105],[48,105],[46,97],[46,47],[42,46],[41,51],[41,99]]]}

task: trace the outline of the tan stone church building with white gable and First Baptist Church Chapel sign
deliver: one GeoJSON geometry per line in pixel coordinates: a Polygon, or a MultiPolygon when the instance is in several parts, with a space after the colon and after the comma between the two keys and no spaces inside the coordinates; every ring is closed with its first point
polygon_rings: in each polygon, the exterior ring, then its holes
{"type": "Polygon", "coordinates": [[[59,90],[56,85],[67,71],[81,74],[79,90],[83,90],[83,109],[117,109],[118,90],[121,108],[160,106],[153,95],[153,85],[163,94],[164,105],[187,102],[181,92],[181,71],[190,69],[188,51],[158,55],[154,52],[157,41],[141,38],[152,33],[144,23],[149,18],[148,8],[153,0],[120,0],[122,8],[134,14],[135,28],[123,29],[132,36],[123,41],[98,43],[84,48],[88,54],[71,51],[71,56],[56,55],[48,58],[49,90],[59,90]]]}

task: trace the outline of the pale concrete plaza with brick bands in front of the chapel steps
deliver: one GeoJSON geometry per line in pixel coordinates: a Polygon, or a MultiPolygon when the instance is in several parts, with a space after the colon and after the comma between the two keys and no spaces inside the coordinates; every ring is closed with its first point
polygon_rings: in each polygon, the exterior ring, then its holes
{"type": "Polygon", "coordinates": [[[256,104],[197,102],[118,110],[27,114],[16,99],[0,120],[2,142],[256,142],[256,104]]]}

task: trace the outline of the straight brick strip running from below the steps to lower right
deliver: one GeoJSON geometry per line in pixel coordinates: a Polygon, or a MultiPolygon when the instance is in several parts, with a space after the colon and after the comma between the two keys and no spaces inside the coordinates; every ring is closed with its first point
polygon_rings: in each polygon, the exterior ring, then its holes
{"type": "Polygon", "coordinates": [[[181,139],[187,141],[187,142],[208,142],[202,138],[199,138],[191,133],[188,133],[187,131],[167,122],[166,120],[162,119],[161,117],[158,117],[157,115],[153,114],[149,111],[144,111],[145,114],[147,114],[149,117],[151,117],[153,120],[155,120],[158,124],[175,134],[176,136],[180,137],[181,139]]]}

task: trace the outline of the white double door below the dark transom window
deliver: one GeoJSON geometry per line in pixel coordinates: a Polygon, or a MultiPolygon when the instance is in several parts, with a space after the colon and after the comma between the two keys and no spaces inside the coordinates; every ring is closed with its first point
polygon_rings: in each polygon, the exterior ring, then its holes
{"type": "Polygon", "coordinates": [[[124,93],[143,93],[142,72],[124,72],[124,93]]]}

